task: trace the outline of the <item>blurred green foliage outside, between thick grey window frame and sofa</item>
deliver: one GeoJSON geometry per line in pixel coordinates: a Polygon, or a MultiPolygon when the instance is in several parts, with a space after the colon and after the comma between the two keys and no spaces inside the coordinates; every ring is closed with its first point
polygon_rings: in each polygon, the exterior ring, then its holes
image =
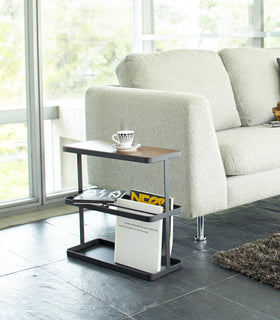
{"type": "Polygon", "coordinates": [[[116,64],[132,50],[131,16],[130,0],[42,1],[45,101],[116,83],[116,64]]]}

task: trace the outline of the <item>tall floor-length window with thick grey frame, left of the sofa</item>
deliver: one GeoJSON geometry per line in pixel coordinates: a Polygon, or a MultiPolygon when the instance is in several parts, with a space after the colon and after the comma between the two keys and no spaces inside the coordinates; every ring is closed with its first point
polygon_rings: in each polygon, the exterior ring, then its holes
{"type": "Polygon", "coordinates": [[[85,139],[85,91],[117,83],[116,64],[132,51],[132,5],[0,0],[0,215],[76,189],[76,159],[62,147],[85,139]]]}

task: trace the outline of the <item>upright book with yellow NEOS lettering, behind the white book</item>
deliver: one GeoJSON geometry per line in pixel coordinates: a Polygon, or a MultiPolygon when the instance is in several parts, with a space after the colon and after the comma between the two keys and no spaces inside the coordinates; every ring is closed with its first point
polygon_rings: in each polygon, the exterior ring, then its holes
{"type": "MultiPolygon", "coordinates": [[[[162,195],[132,189],[130,191],[130,199],[133,201],[139,201],[139,202],[149,203],[157,206],[162,206],[164,211],[166,208],[165,198],[162,195]]],[[[171,197],[169,198],[169,209],[170,210],[174,209],[174,198],[171,198],[171,197]]],[[[171,217],[170,219],[170,238],[169,239],[170,239],[169,246],[170,246],[170,255],[171,255],[172,246],[173,246],[173,217],[171,217]]]]}

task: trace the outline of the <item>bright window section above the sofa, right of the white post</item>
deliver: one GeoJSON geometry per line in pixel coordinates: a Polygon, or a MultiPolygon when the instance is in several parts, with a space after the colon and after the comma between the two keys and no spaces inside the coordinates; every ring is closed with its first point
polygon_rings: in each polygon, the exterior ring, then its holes
{"type": "Polygon", "coordinates": [[[141,50],[146,52],[280,44],[279,0],[143,0],[143,3],[143,32],[138,38],[142,41],[141,50]]]}

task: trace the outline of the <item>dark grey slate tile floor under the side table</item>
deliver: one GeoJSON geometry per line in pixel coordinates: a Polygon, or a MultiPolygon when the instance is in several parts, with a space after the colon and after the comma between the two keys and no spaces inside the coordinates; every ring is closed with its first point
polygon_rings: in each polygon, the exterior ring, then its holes
{"type": "MultiPolygon", "coordinates": [[[[195,221],[175,217],[173,256],[183,268],[156,281],[68,259],[78,214],[0,231],[0,319],[280,319],[280,290],[224,270],[211,255],[280,231],[280,198],[195,221]]],[[[86,240],[114,238],[115,217],[85,213],[86,240]]]]}

